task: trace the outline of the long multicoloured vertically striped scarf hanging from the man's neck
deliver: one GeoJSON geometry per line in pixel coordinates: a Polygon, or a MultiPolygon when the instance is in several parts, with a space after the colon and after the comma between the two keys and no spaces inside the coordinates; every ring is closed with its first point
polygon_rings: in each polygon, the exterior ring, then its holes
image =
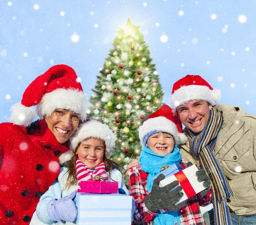
{"type": "Polygon", "coordinates": [[[212,153],[222,123],[223,117],[221,112],[212,107],[207,125],[200,134],[195,135],[187,128],[185,130],[190,140],[191,154],[197,155],[200,158],[200,162],[204,170],[207,171],[211,181],[215,225],[231,225],[227,198],[233,196],[234,193],[212,153]]]}

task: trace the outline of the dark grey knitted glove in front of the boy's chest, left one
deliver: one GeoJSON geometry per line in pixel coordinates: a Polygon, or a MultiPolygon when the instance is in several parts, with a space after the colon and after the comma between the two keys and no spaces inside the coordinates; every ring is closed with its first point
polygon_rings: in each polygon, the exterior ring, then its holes
{"type": "Polygon", "coordinates": [[[182,190],[182,187],[178,186],[179,182],[175,180],[174,182],[160,188],[159,183],[163,179],[165,179],[163,174],[160,174],[156,179],[154,179],[151,192],[144,200],[145,206],[153,213],[163,208],[176,211],[186,205],[186,202],[180,202],[175,205],[183,196],[183,193],[179,193],[182,190]]]}

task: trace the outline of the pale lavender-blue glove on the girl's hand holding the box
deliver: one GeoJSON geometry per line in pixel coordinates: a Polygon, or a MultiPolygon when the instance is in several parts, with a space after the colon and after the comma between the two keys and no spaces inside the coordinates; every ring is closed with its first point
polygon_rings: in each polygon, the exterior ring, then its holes
{"type": "Polygon", "coordinates": [[[73,198],[76,196],[76,191],[73,191],[70,195],[61,199],[52,199],[47,204],[47,213],[53,221],[61,222],[73,222],[77,216],[77,208],[73,202],[73,198]]]}

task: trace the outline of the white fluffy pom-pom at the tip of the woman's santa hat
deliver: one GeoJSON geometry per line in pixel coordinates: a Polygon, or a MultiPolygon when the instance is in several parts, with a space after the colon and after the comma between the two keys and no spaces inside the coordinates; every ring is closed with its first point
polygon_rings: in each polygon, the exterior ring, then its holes
{"type": "Polygon", "coordinates": [[[32,110],[32,108],[26,107],[21,103],[12,105],[11,111],[12,114],[9,120],[16,125],[29,126],[35,119],[35,112],[32,110]]]}

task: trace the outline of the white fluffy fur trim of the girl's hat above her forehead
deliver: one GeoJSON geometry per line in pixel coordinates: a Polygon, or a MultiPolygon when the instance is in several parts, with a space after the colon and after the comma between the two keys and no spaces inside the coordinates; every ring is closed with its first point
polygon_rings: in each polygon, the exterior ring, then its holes
{"type": "Polygon", "coordinates": [[[107,124],[99,120],[87,119],[81,123],[70,138],[70,150],[75,151],[84,139],[95,137],[105,141],[108,156],[111,157],[115,147],[116,136],[107,124]]]}

